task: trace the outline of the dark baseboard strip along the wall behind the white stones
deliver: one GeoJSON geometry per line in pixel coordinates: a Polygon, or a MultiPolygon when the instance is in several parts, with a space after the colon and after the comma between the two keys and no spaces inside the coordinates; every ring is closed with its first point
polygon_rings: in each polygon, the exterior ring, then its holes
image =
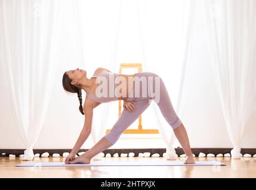
{"type": "MultiPolygon", "coordinates": [[[[232,150],[232,148],[191,148],[193,154],[195,154],[195,156],[198,156],[199,153],[212,153],[215,154],[215,156],[217,154],[226,154],[226,153],[230,153],[230,151],[232,150]]],[[[87,151],[88,149],[81,149],[79,150],[79,152],[82,151],[87,151]]],[[[34,154],[39,153],[40,155],[42,153],[48,152],[50,154],[49,157],[52,157],[54,153],[58,153],[60,154],[60,156],[62,156],[62,154],[64,152],[70,152],[70,149],[34,149],[33,152],[34,154]]],[[[184,154],[184,151],[182,148],[175,148],[176,154],[178,154],[178,156],[180,156],[181,154],[184,154]]],[[[103,153],[106,155],[107,153],[110,153],[111,156],[113,156],[113,154],[118,153],[119,156],[121,153],[134,153],[135,157],[138,156],[138,153],[145,153],[145,152],[149,152],[150,155],[158,153],[160,154],[160,156],[162,157],[162,155],[166,152],[165,148],[123,148],[123,149],[107,149],[104,150],[103,153]]],[[[16,155],[16,157],[18,157],[20,154],[24,154],[24,149],[0,149],[0,157],[6,157],[9,156],[10,154],[14,154],[16,155]],[[5,153],[5,154],[3,154],[5,153]]],[[[251,154],[252,156],[254,154],[256,154],[256,148],[241,148],[241,154],[251,154]]]]}

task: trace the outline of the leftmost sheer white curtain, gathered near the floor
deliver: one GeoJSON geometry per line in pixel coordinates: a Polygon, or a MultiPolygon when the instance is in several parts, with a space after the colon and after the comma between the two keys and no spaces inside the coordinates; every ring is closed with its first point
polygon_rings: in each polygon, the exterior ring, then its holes
{"type": "Polygon", "coordinates": [[[57,1],[0,1],[5,52],[1,55],[8,72],[7,88],[14,121],[26,150],[33,159],[33,145],[44,123],[55,75],[57,55],[57,1]]]}

